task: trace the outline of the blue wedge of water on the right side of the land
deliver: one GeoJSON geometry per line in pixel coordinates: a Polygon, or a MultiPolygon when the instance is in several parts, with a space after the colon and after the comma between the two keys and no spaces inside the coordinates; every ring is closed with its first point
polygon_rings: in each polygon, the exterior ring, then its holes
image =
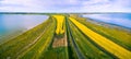
{"type": "Polygon", "coordinates": [[[99,13],[82,16],[131,28],[131,13],[99,13]]]}

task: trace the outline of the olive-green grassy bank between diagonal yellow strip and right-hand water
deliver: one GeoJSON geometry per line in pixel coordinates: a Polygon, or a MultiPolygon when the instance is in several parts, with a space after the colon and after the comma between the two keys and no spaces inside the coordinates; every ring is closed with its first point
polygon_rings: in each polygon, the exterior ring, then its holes
{"type": "Polygon", "coordinates": [[[98,25],[93,23],[96,21],[92,21],[85,17],[80,17],[76,15],[71,16],[73,16],[75,20],[78,20],[80,23],[84,24],[92,31],[109,38],[110,40],[115,42],[118,45],[121,45],[122,47],[131,51],[131,32],[128,32],[119,26],[109,27],[109,24],[98,25]]]}

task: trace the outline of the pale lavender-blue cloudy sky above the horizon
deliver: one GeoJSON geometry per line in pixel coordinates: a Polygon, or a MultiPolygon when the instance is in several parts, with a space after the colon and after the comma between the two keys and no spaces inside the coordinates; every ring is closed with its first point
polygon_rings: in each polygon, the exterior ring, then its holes
{"type": "Polygon", "coordinates": [[[0,12],[131,12],[131,0],[0,0],[0,12]]]}

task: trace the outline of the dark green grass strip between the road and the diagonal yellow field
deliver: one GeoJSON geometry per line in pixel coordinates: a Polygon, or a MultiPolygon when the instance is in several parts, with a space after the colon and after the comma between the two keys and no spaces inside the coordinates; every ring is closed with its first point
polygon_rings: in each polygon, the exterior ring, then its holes
{"type": "Polygon", "coordinates": [[[112,59],[114,57],[107,55],[99,48],[97,48],[88,37],[86,37],[81,31],[70,21],[70,26],[74,40],[78,44],[80,50],[86,59],[112,59]]]}

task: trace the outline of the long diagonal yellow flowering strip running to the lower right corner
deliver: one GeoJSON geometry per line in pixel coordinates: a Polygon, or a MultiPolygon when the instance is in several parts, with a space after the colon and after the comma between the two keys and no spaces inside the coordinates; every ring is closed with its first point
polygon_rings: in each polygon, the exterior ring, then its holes
{"type": "Polygon", "coordinates": [[[93,32],[87,28],[85,25],[81,24],[73,17],[69,17],[86,36],[88,36],[92,40],[98,44],[100,47],[109,51],[110,54],[117,56],[120,59],[131,59],[131,51],[124,49],[123,47],[115,44],[108,38],[93,32]]]}

